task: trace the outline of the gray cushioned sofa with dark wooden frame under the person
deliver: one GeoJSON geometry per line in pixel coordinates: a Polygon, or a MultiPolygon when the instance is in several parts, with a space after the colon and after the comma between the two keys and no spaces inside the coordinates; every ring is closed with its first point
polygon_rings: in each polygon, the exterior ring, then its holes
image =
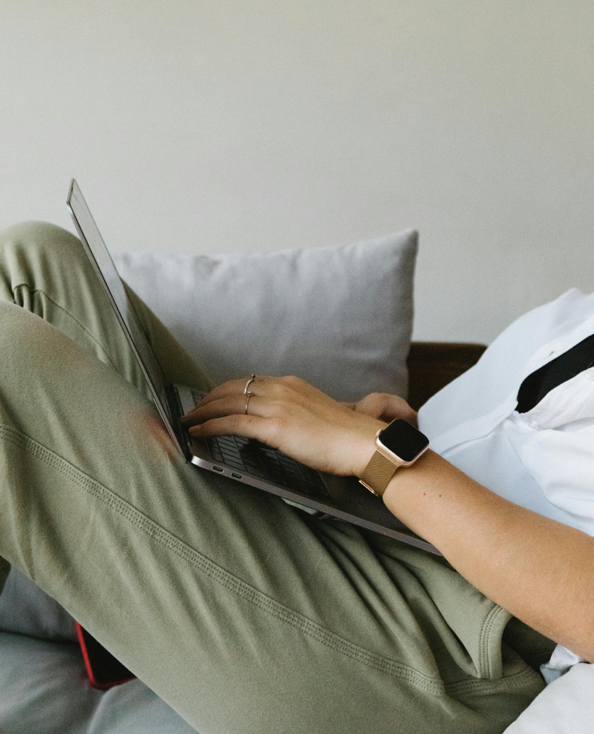
{"type": "MultiPolygon", "coordinates": [[[[344,247],[121,252],[114,261],[216,381],[298,374],[337,399],[386,391],[418,408],[485,346],[411,344],[416,254],[417,233],[407,230],[344,247]]],[[[531,726],[518,734],[537,730],[531,726]]],[[[139,680],[92,688],[73,618],[11,570],[0,596],[1,733],[193,731],[139,680]]]]}

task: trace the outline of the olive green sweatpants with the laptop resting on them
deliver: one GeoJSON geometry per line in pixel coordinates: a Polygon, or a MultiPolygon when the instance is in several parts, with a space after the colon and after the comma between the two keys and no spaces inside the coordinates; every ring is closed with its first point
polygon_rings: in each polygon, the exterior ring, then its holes
{"type": "MultiPolygon", "coordinates": [[[[164,377],[208,387],[131,298],[164,377]]],[[[40,223],[0,236],[0,556],[201,734],[501,732],[551,650],[444,559],[186,464],[40,223]]]]}

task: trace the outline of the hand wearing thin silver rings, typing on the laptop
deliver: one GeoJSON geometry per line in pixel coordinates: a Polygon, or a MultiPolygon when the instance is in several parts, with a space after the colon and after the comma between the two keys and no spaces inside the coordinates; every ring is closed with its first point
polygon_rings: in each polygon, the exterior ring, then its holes
{"type": "Polygon", "coordinates": [[[341,476],[361,476],[375,451],[375,433],[384,424],[351,410],[298,377],[258,375],[215,388],[181,419],[190,435],[240,435],[279,448],[308,466],[341,476]]]}

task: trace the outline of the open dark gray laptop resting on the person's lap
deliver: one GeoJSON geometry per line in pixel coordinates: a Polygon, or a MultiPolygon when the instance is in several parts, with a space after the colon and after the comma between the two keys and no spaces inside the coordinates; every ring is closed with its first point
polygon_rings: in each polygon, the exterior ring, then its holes
{"type": "Polygon", "coordinates": [[[441,555],[392,515],[381,498],[367,492],[356,477],[315,471],[276,448],[240,436],[197,439],[180,426],[180,417],[193,410],[202,393],[187,385],[164,384],[163,373],[126,295],[122,280],[73,179],[67,206],[85,252],[105,288],[117,321],[147,382],[172,443],[199,470],[222,474],[236,482],[281,497],[288,504],[318,517],[336,517],[353,525],[410,543],[441,555]]]}

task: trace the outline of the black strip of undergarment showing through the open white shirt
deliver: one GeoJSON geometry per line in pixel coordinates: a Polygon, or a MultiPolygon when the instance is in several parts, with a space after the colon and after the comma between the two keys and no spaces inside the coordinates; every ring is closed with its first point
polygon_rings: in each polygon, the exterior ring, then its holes
{"type": "Polygon", "coordinates": [[[546,393],[590,367],[594,367],[594,334],[529,374],[518,390],[516,410],[518,413],[527,413],[546,393]]]}

